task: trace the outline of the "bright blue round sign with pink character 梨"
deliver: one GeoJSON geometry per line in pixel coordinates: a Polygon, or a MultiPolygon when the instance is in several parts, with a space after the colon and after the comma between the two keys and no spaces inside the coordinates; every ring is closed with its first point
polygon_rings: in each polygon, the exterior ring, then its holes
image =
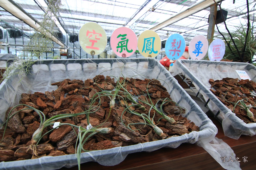
{"type": "Polygon", "coordinates": [[[179,59],[186,48],[185,39],[180,34],[169,36],[165,43],[165,54],[170,60],[179,59]]]}

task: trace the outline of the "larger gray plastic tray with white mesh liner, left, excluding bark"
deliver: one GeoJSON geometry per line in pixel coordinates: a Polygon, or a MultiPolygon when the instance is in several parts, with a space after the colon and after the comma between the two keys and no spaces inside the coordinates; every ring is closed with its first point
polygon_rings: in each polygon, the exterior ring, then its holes
{"type": "MultiPolygon", "coordinates": [[[[95,161],[101,165],[111,166],[122,162],[127,154],[141,151],[154,151],[163,147],[176,148],[181,143],[195,143],[205,148],[214,159],[227,169],[240,169],[239,162],[223,163],[220,155],[234,155],[233,150],[222,140],[216,144],[217,128],[200,107],[190,98],[177,80],[154,58],[132,59],[68,59],[37,61],[27,75],[14,75],[0,85],[0,124],[8,107],[19,103],[22,93],[45,92],[57,89],[51,83],[64,79],[86,80],[98,74],[104,76],[124,76],[138,79],[161,79],[160,82],[168,90],[172,99],[186,108],[187,117],[199,126],[199,132],[191,132],[178,137],[159,141],[139,143],[137,145],[117,147],[107,150],[90,151],[81,154],[81,163],[95,161]],[[122,74],[122,75],[121,75],[122,74]],[[136,76],[135,76],[136,75],[136,76]],[[144,75],[144,76],[142,76],[144,75]],[[146,76],[146,77],[145,77],[146,76]]],[[[45,156],[39,159],[16,162],[1,162],[0,169],[58,169],[63,166],[77,165],[75,154],[63,156],[45,156]]]]}

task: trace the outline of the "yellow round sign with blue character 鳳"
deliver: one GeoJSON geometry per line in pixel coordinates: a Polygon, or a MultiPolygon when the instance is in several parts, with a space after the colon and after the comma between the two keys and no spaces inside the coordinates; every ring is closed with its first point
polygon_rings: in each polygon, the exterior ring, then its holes
{"type": "Polygon", "coordinates": [[[161,46],[161,39],[155,31],[143,31],[138,38],[138,50],[143,57],[156,57],[161,46]]]}

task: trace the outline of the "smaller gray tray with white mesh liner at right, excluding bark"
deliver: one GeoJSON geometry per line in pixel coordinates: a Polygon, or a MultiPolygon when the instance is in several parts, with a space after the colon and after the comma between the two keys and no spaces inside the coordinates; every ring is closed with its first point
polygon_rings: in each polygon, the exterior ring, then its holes
{"type": "Polygon", "coordinates": [[[222,121],[225,136],[238,139],[241,135],[253,136],[256,134],[256,123],[244,123],[230,109],[228,109],[211,91],[209,79],[221,80],[226,77],[238,78],[236,70],[247,72],[252,81],[256,81],[256,67],[249,63],[204,61],[204,60],[177,60],[170,72],[173,76],[182,73],[189,78],[195,87],[200,90],[209,109],[220,113],[217,118],[222,121]]]}

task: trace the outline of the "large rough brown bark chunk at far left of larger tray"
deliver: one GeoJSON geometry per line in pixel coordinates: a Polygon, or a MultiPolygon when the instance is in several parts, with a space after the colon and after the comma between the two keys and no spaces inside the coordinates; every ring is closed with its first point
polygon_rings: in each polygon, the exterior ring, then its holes
{"type": "MultiPolygon", "coordinates": [[[[9,114],[9,112],[11,111],[13,107],[10,107],[7,111],[6,111],[6,115],[9,114]]],[[[10,116],[13,115],[15,112],[17,112],[18,110],[16,108],[14,108],[12,110],[12,112],[10,113],[10,116]]],[[[7,117],[6,117],[7,119],[7,117]]],[[[11,117],[7,123],[7,126],[12,129],[14,132],[16,133],[24,133],[26,132],[25,127],[23,126],[19,114],[15,113],[15,115],[13,117],[11,117]]]]}

